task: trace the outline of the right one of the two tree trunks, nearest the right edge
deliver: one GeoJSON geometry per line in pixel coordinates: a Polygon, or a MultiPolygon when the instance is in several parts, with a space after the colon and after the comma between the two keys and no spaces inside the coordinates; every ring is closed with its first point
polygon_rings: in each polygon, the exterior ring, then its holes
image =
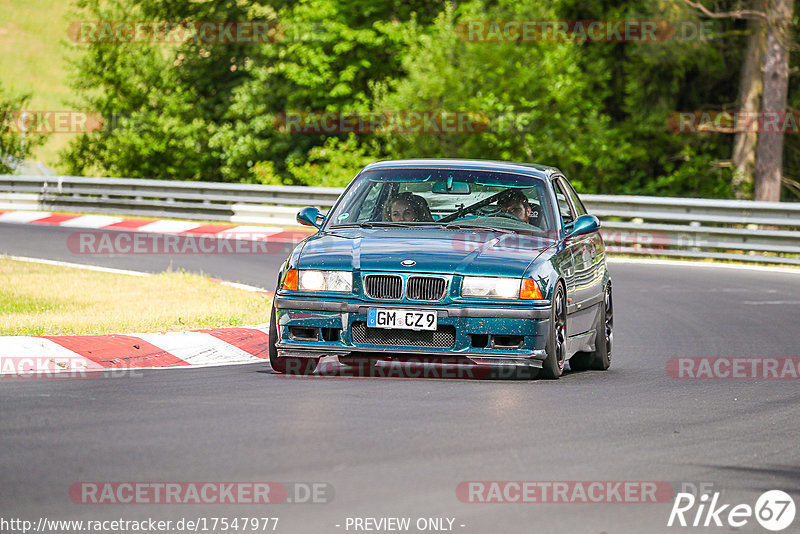
{"type": "MultiPolygon", "coordinates": [[[[764,100],[761,109],[756,153],[755,199],[778,202],[781,199],[783,131],[789,88],[790,23],[794,0],[767,2],[767,48],[764,57],[764,100]],[[771,121],[771,114],[779,119],[771,121]]],[[[773,116],[774,117],[774,116],[773,116]]]]}

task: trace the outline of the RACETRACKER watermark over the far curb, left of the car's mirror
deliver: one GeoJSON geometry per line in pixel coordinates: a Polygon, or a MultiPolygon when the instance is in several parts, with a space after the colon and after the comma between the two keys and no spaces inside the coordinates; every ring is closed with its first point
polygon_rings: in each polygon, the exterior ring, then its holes
{"type": "Polygon", "coordinates": [[[211,235],[144,232],[73,232],[67,249],[73,254],[282,254],[299,239],[272,238],[268,233],[211,235]]]}

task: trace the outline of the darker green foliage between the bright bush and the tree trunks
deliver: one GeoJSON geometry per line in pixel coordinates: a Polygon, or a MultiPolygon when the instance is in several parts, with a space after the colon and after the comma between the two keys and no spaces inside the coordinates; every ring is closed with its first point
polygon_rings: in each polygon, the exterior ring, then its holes
{"type": "MultiPolygon", "coordinates": [[[[722,2],[718,10],[725,10],[722,2]]],[[[733,8],[733,5],[727,6],[733,8]]],[[[611,119],[610,155],[614,176],[584,181],[584,191],[662,196],[728,197],[733,136],[679,134],[666,125],[669,114],[736,106],[742,21],[691,15],[683,2],[604,0],[588,5],[560,0],[558,18],[668,21],[675,34],[662,42],[586,43],[578,65],[594,91],[604,93],[600,111],[611,119]],[[705,39],[686,28],[705,27],[705,39]],[[605,78],[603,77],[605,75],[605,78]]],[[[698,32],[697,34],[701,34],[698,32]]]]}

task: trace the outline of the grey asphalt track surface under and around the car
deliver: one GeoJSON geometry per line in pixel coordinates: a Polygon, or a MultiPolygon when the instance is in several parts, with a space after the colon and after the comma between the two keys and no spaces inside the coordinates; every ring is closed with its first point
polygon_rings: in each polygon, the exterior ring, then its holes
{"type": "MultiPolygon", "coordinates": [[[[270,289],[284,259],[81,258],[64,246],[71,231],[0,225],[0,253],[147,271],[172,265],[270,289]]],[[[410,532],[420,517],[455,518],[453,530],[463,533],[698,530],[666,527],[672,500],[459,501],[458,484],[475,480],[666,481],[676,491],[711,483],[725,503],[752,506],[762,492],[781,489],[800,505],[800,382],[676,380],[665,370],[677,356],[800,356],[800,275],[610,269],[613,365],[558,381],[287,378],[266,363],[3,380],[0,516],[269,516],[285,533],[354,532],[346,518],[387,516],[410,517],[410,532]],[[68,496],[79,481],[325,482],[334,497],[267,506],[81,505],[68,496]]],[[[784,532],[798,525],[800,517],[784,532]]],[[[767,532],[752,518],[738,531],[767,532]]]]}

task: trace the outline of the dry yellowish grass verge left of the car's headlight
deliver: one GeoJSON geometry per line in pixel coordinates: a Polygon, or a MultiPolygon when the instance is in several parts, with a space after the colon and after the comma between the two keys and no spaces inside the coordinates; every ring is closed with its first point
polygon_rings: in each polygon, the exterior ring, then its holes
{"type": "Polygon", "coordinates": [[[0,335],[223,328],[269,321],[261,293],[182,272],[138,277],[0,257],[0,335]]]}

